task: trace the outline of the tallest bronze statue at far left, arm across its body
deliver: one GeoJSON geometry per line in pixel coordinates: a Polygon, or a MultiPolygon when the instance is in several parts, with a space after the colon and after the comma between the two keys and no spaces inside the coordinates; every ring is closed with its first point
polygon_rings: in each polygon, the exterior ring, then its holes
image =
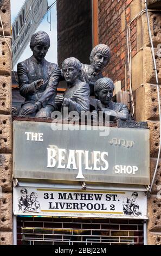
{"type": "Polygon", "coordinates": [[[25,97],[20,116],[50,117],[54,110],[60,70],[56,64],[44,59],[49,47],[48,34],[43,31],[35,33],[30,41],[33,56],[17,65],[20,94],[25,97]]]}

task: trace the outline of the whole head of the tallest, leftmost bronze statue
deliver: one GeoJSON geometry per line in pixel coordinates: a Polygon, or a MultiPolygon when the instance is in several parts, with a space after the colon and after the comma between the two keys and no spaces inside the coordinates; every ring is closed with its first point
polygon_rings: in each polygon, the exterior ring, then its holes
{"type": "Polygon", "coordinates": [[[31,36],[30,48],[34,57],[41,62],[46,56],[50,47],[49,35],[44,31],[38,31],[31,36]]]}

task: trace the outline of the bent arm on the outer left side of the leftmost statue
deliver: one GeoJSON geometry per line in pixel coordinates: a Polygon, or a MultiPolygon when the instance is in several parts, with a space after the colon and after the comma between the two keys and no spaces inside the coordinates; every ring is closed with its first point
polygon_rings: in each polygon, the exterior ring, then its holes
{"type": "Polygon", "coordinates": [[[17,74],[18,74],[18,84],[20,87],[20,94],[23,97],[27,95],[32,95],[36,92],[36,84],[34,81],[33,83],[29,83],[28,75],[27,75],[27,68],[24,64],[18,63],[17,65],[17,74]]]}

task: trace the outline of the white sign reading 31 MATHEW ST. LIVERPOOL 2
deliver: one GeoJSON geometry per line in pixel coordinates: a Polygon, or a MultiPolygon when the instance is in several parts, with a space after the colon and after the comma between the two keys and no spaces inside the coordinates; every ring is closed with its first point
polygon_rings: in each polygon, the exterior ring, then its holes
{"type": "Polygon", "coordinates": [[[145,192],[14,188],[15,215],[147,218],[145,192]]]}

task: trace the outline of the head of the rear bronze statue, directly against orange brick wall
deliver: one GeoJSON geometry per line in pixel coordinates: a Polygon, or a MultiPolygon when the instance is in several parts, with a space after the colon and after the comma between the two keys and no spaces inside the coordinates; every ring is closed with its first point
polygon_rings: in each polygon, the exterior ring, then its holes
{"type": "Polygon", "coordinates": [[[110,62],[110,58],[110,48],[104,44],[96,45],[89,57],[95,72],[101,72],[101,70],[110,62]]]}

